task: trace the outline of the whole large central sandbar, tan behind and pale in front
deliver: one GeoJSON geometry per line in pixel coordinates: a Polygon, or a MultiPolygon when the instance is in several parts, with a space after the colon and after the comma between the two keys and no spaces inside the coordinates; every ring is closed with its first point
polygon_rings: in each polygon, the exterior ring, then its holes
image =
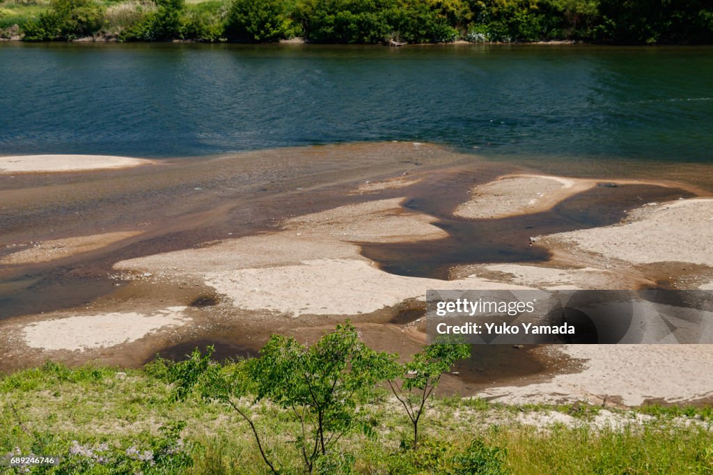
{"type": "Polygon", "coordinates": [[[118,262],[157,275],[188,272],[245,310],[290,315],[356,315],[425,298],[428,289],[524,288],[471,278],[458,281],[392,275],[359,254],[354,242],[432,239],[433,218],[379,200],[292,218],[280,233],[225,240],[195,250],[118,262]]]}

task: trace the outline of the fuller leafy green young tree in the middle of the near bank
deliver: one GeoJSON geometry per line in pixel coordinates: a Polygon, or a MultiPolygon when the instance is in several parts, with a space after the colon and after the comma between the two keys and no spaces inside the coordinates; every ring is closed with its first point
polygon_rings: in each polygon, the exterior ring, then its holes
{"type": "Polygon", "coordinates": [[[257,399],[289,409],[299,421],[297,445],[309,473],[342,436],[371,426],[359,401],[382,379],[393,355],[366,347],[347,322],[311,347],[273,336],[251,364],[257,399]]]}

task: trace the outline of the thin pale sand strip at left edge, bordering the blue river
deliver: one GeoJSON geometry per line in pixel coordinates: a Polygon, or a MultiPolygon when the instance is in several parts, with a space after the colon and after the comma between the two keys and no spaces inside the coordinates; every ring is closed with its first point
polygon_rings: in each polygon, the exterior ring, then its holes
{"type": "Polygon", "coordinates": [[[61,172],[128,168],[152,163],[150,160],[108,155],[19,155],[0,157],[0,173],[61,172]]]}

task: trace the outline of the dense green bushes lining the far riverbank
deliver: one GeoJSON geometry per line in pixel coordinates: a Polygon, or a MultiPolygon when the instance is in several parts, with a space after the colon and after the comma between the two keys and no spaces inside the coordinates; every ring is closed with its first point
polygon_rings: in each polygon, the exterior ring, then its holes
{"type": "MultiPolygon", "coordinates": [[[[707,0],[51,0],[18,23],[25,39],[118,36],[125,41],[375,44],[548,41],[710,43],[707,0]],[[108,9],[104,8],[108,6],[108,9]]],[[[33,11],[28,8],[29,14],[33,11]]],[[[36,7],[33,7],[36,8],[36,7]]],[[[10,26],[15,10],[0,9],[10,26]],[[8,19],[6,19],[8,18],[8,19]]]]}

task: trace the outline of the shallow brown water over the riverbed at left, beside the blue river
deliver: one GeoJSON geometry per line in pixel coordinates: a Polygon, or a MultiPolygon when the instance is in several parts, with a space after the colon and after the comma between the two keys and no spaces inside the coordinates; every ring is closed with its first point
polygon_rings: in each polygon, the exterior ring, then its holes
{"type": "Polygon", "coordinates": [[[120,260],[275,230],[283,218],[374,199],[348,194],[365,180],[461,160],[473,157],[432,145],[361,143],[0,175],[0,257],[15,250],[11,243],[144,231],[63,260],[0,265],[0,320],[86,305],[123,285],[109,278],[120,260]]]}

